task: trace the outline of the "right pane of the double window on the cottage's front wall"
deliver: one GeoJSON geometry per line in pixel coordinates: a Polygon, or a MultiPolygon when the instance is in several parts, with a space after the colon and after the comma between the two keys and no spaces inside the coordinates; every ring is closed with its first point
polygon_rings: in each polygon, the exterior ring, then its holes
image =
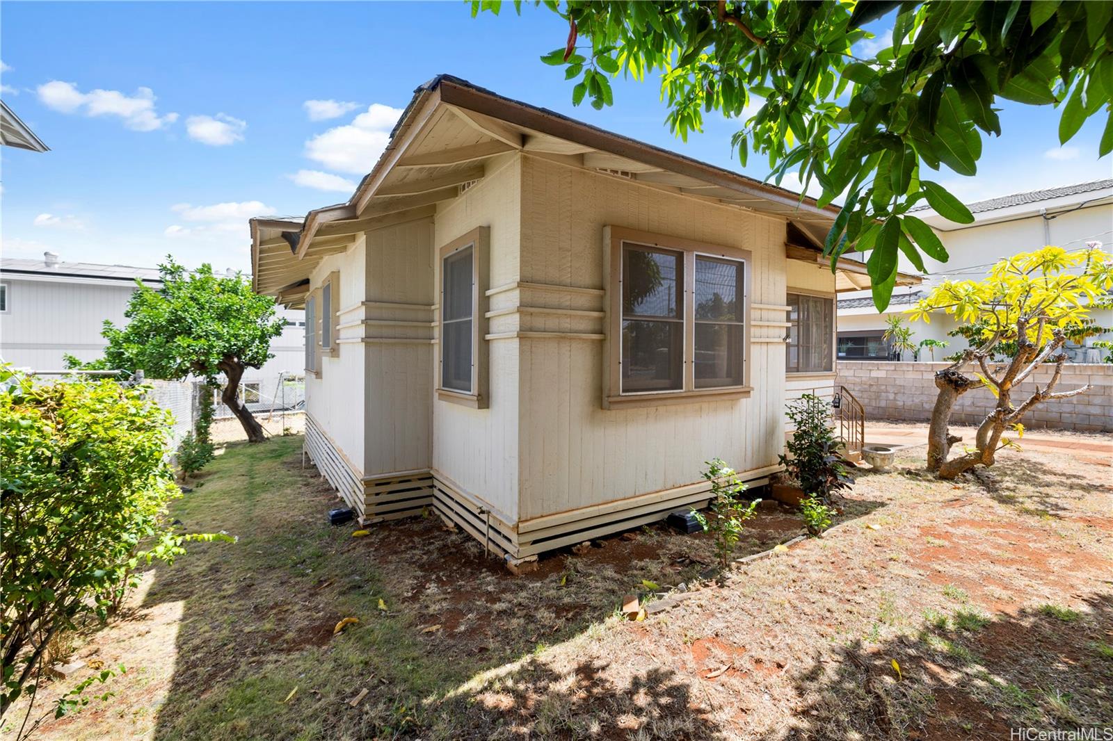
{"type": "Polygon", "coordinates": [[[696,257],[696,388],[741,386],[742,263],[696,257]]]}

